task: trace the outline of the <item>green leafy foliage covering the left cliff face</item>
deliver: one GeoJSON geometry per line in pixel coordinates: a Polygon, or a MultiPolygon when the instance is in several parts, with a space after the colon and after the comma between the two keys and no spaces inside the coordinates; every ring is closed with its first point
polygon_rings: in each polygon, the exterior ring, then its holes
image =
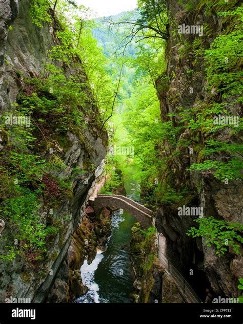
{"type": "MultiPolygon", "coordinates": [[[[54,5],[65,11],[75,3],[55,1],[54,5]]],[[[46,23],[54,24],[49,1],[33,2],[30,15],[39,28],[46,23]]],[[[43,214],[40,207],[45,203],[46,207],[55,208],[63,199],[73,198],[71,179],[77,176],[77,170],[66,178],[60,177],[67,172],[60,153],[72,145],[67,140],[68,131],[84,143],[82,131],[87,127],[84,112],[88,112],[87,105],[92,107],[93,102],[80,64],[80,51],[75,46],[77,43],[73,44],[78,33],[72,30],[64,16],[59,15],[59,18],[54,26],[56,42],[48,51],[43,77],[24,79],[24,91],[12,107],[14,116],[30,118],[30,127],[1,125],[4,147],[0,152],[3,184],[0,212],[12,229],[9,239],[18,241],[10,246],[6,238],[2,239],[3,261],[12,261],[19,253],[31,263],[42,260],[66,221],[43,214]],[[68,73],[67,67],[73,62],[79,63],[74,66],[73,73],[68,73]]],[[[98,118],[94,120],[94,124],[101,122],[98,118]]],[[[89,167],[93,168],[87,165],[89,167]]]]}

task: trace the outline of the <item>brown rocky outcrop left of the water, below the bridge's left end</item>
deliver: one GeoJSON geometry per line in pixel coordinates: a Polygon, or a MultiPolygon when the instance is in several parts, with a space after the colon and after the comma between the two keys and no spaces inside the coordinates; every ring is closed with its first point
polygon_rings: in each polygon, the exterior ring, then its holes
{"type": "Polygon", "coordinates": [[[88,264],[94,260],[97,248],[104,249],[110,234],[110,210],[104,208],[99,214],[94,214],[92,208],[88,206],[82,222],[79,223],[74,232],[66,261],[63,263],[47,297],[48,303],[64,302],[59,300],[71,302],[88,291],[88,288],[82,282],[80,267],[85,260],[88,261],[88,264]],[[62,289],[58,290],[56,285],[60,285],[62,289]],[[67,289],[64,289],[64,287],[67,289]]]}

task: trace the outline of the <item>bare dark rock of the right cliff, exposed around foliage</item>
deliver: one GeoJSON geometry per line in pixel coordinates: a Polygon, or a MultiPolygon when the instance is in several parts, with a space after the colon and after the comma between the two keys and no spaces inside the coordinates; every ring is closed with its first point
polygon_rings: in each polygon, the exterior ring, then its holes
{"type": "MultiPolygon", "coordinates": [[[[196,4],[196,2],[195,2],[196,4]]],[[[164,87],[159,94],[161,119],[172,120],[174,126],[179,124],[179,107],[184,110],[196,107],[198,101],[207,102],[207,80],[205,76],[204,61],[195,60],[192,50],[187,51],[188,44],[192,44],[195,34],[178,34],[178,25],[202,25],[210,26],[211,33],[206,31],[204,46],[209,48],[213,39],[221,34],[222,19],[216,13],[205,14],[204,7],[200,10],[188,12],[177,0],[166,1],[169,13],[169,39],[166,48],[167,72],[169,77],[168,88],[164,87]],[[176,30],[176,32],[174,32],[176,30]],[[181,37],[181,38],[180,38],[181,37]],[[185,55],[181,53],[186,53],[185,55]],[[195,73],[190,73],[190,71],[195,73]],[[192,90],[192,91],[190,91],[192,90]],[[175,117],[167,117],[168,113],[175,117]]],[[[160,84],[160,80],[157,80],[160,84]]],[[[221,100],[221,98],[218,98],[221,100]]],[[[238,104],[228,105],[229,113],[240,116],[238,104]]],[[[198,142],[204,141],[204,135],[185,129],[180,134],[180,139],[191,140],[198,138],[198,142]]],[[[218,139],[226,141],[231,139],[236,143],[239,139],[229,134],[225,129],[218,135],[218,139]]],[[[179,138],[177,138],[177,141],[179,138]]],[[[168,143],[163,143],[166,154],[169,155],[168,143]]],[[[211,171],[188,172],[186,169],[193,163],[197,163],[196,149],[190,154],[190,147],[183,148],[177,145],[173,160],[168,165],[164,177],[175,191],[188,188],[193,193],[193,198],[188,206],[201,206],[204,215],[212,215],[219,220],[243,222],[242,218],[242,186],[239,181],[229,181],[224,184],[215,178],[211,171]]],[[[227,161],[229,155],[222,154],[221,161],[227,161]]],[[[191,226],[195,226],[195,217],[179,216],[177,207],[160,204],[156,214],[156,227],[167,238],[167,255],[174,265],[184,273],[185,277],[194,282],[195,286],[202,280],[200,292],[203,293],[209,283],[215,294],[237,297],[238,279],[243,276],[243,258],[232,251],[220,258],[215,255],[212,247],[207,247],[202,239],[191,239],[185,233],[191,226]],[[189,270],[194,269],[194,275],[189,275],[189,270]],[[206,277],[205,277],[206,275],[206,277]],[[207,283],[207,279],[209,283],[207,283]]]]}

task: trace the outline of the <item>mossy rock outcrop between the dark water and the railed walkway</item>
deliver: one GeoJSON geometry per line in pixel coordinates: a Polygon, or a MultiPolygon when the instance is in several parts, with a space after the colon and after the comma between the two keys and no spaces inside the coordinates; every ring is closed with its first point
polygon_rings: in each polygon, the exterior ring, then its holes
{"type": "Polygon", "coordinates": [[[153,232],[145,234],[136,223],[132,228],[131,263],[137,293],[135,303],[185,303],[171,275],[157,257],[157,239],[153,232]]]}

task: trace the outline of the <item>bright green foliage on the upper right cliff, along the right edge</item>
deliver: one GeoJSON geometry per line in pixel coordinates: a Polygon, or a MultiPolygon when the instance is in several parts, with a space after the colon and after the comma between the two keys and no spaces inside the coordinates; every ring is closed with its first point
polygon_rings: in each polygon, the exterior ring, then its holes
{"type": "Polygon", "coordinates": [[[214,177],[225,181],[242,179],[242,144],[232,144],[230,141],[219,142],[215,140],[219,132],[240,134],[242,131],[242,119],[239,118],[239,126],[213,123],[214,116],[231,116],[229,110],[233,105],[242,102],[242,7],[234,7],[233,2],[220,4],[214,1],[207,3],[207,9],[217,8],[217,14],[224,17],[224,22],[230,23],[231,29],[217,36],[211,44],[210,49],[196,51],[196,55],[204,56],[206,74],[208,80],[208,92],[210,103],[201,104],[196,109],[181,112],[181,122],[188,121],[188,127],[192,131],[200,131],[206,137],[205,149],[198,155],[204,162],[193,164],[190,170],[213,170],[214,177]],[[228,20],[227,20],[228,19],[228,20]],[[217,97],[215,98],[215,93],[217,97]],[[221,99],[218,99],[221,98],[221,99]],[[218,161],[217,153],[229,156],[226,161],[218,161]]]}

